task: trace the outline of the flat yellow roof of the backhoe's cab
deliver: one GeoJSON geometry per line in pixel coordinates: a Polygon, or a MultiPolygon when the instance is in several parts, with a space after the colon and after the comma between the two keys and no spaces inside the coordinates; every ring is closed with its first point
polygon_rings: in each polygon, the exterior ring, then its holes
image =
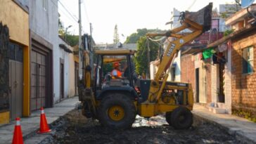
{"type": "Polygon", "coordinates": [[[134,55],[136,51],[127,50],[127,49],[118,49],[118,50],[96,50],[95,54],[97,55],[134,55]]]}

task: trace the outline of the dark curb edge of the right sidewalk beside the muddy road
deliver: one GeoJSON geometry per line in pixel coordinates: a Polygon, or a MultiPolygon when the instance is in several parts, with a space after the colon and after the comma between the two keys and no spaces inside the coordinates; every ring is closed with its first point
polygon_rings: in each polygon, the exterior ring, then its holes
{"type": "Polygon", "coordinates": [[[198,119],[198,121],[200,121],[200,122],[208,122],[210,124],[217,126],[219,129],[222,129],[222,130],[226,131],[226,133],[229,133],[231,136],[234,136],[236,138],[236,140],[241,141],[241,143],[249,143],[249,144],[256,143],[256,140],[252,140],[252,139],[246,137],[242,131],[232,130],[228,126],[224,126],[224,125],[219,124],[211,119],[207,119],[203,116],[200,116],[200,114],[193,113],[193,118],[198,119]]]}

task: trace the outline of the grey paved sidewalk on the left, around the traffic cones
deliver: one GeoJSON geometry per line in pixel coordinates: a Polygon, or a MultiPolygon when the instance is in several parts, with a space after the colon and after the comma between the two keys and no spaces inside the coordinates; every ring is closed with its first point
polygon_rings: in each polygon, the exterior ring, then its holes
{"type": "MultiPolygon", "coordinates": [[[[70,112],[70,110],[75,109],[78,104],[78,97],[75,96],[73,98],[68,98],[61,101],[60,103],[57,103],[52,108],[44,109],[48,124],[55,122],[59,117],[70,112]]],[[[26,139],[39,130],[40,114],[40,110],[37,110],[35,112],[32,112],[30,117],[21,118],[20,124],[23,131],[23,138],[25,139],[25,143],[36,143],[36,141],[26,139]]],[[[14,126],[15,121],[12,121],[10,122],[10,124],[6,124],[4,126],[0,126],[0,143],[7,144],[12,142],[14,126]]],[[[44,138],[45,136],[46,135],[41,135],[41,138],[44,138]]],[[[38,140],[39,139],[37,138],[37,141],[38,140]]]]}

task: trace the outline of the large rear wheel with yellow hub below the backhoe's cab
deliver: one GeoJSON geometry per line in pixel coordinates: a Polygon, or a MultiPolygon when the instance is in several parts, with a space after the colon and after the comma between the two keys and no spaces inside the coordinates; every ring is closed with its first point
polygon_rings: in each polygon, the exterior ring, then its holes
{"type": "Polygon", "coordinates": [[[101,100],[98,119],[111,129],[128,129],[136,117],[135,105],[129,96],[123,93],[110,93],[101,100]]]}

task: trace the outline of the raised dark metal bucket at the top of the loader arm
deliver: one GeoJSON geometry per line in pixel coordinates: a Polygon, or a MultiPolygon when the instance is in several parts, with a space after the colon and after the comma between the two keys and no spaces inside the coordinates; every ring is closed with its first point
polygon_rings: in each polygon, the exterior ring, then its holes
{"type": "Polygon", "coordinates": [[[203,32],[211,29],[212,25],[212,3],[197,12],[185,12],[185,18],[203,25],[203,32]]]}

